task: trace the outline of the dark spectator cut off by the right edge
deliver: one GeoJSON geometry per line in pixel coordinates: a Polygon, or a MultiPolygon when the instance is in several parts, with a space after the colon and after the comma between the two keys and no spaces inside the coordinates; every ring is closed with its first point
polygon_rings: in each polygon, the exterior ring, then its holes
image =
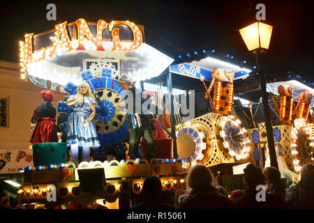
{"type": "Polygon", "coordinates": [[[297,185],[292,185],[287,191],[285,202],[288,208],[313,209],[314,208],[314,166],[305,164],[301,169],[301,180],[297,185]]]}

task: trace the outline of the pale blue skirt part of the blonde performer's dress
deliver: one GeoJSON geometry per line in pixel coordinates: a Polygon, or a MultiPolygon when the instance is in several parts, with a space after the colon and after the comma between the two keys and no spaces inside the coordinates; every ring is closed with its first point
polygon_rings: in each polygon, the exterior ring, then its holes
{"type": "Polygon", "coordinates": [[[89,148],[98,148],[100,146],[94,121],[89,121],[89,125],[84,126],[84,120],[90,115],[90,112],[73,111],[68,117],[68,139],[66,146],[76,144],[89,148]]]}

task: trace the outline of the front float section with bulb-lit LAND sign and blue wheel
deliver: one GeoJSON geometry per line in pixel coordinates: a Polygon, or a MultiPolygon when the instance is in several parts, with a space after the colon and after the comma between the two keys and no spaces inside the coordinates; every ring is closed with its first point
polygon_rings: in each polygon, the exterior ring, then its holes
{"type": "MultiPolygon", "coordinates": [[[[129,21],[63,22],[45,33],[27,33],[20,42],[21,77],[25,81],[67,95],[77,93],[80,83],[89,84],[96,99],[94,120],[101,144],[94,157],[103,156],[106,146],[114,146],[118,153],[126,147],[126,93],[118,86],[118,79],[128,75],[141,88],[140,82],[160,75],[172,61],[144,43],[144,27],[129,21]]],[[[156,91],[156,87],[144,86],[144,90],[156,91]]],[[[59,101],[57,112],[57,125],[66,135],[72,108],[66,101],[59,101]]],[[[163,140],[166,142],[158,144],[156,139],[156,146],[166,145],[166,155],[156,153],[150,162],[145,157],[110,162],[105,158],[80,162],[78,167],[69,161],[64,143],[33,144],[34,167],[20,169],[24,171],[20,197],[25,203],[45,203],[53,187],[58,201],[89,203],[101,198],[111,208],[118,208],[120,194],[130,188],[134,194],[140,194],[144,178],[151,175],[160,176],[163,190],[176,190],[185,185],[181,160],[172,158],[172,139],[163,140]]]]}

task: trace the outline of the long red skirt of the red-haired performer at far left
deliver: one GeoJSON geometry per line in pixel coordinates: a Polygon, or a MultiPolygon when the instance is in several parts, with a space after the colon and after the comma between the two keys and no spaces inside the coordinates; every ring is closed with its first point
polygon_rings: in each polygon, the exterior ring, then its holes
{"type": "Polygon", "coordinates": [[[56,118],[40,118],[31,135],[31,144],[38,144],[40,142],[57,142],[57,130],[54,126],[56,118]]]}

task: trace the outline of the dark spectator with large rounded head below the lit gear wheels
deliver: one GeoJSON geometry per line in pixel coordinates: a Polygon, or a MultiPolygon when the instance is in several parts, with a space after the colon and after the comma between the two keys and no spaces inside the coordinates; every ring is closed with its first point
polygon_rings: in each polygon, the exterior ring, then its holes
{"type": "Polygon", "coordinates": [[[233,203],[212,186],[213,175],[203,164],[190,168],[187,177],[188,187],[192,191],[181,199],[179,209],[234,208],[233,203]]]}

